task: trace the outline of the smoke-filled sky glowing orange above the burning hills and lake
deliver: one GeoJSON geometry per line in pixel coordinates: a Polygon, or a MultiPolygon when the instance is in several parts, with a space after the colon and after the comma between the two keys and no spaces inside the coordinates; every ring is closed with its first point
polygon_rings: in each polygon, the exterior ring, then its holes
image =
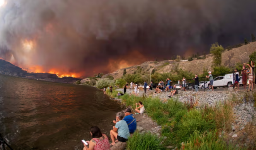
{"type": "Polygon", "coordinates": [[[0,57],[89,76],[256,34],[256,0],[0,0],[0,57]]]}

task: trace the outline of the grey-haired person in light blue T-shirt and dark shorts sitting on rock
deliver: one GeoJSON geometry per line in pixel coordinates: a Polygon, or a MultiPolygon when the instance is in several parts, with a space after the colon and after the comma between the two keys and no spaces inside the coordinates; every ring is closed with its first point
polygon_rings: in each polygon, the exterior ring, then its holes
{"type": "Polygon", "coordinates": [[[116,114],[116,125],[113,126],[113,130],[110,131],[110,137],[112,140],[112,143],[110,146],[113,146],[116,144],[116,142],[126,142],[128,140],[128,137],[130,137],[130,131],[128,128],[128,125],[123,118],[125,117],[125,114],[123,112],[118,112],[116,114]],[[115,139],[117,139],[115,141],[115,139]]]}

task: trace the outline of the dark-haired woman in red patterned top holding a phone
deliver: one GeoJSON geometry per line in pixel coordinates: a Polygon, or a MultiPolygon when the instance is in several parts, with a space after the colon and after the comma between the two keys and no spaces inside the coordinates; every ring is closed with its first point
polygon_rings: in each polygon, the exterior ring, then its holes
{"type": "Polygon", "coordinates": [[[102,134],[98,127],[91,127],[90,135],[92,135],[92,140],[87,141],[89,147],[84,144],[83,150],[110,150],[107,135],[102,134]]]}

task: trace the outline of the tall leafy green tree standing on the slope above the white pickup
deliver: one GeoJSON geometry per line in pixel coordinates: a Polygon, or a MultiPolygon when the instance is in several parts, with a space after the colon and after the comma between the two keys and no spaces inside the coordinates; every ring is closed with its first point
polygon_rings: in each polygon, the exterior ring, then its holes
{"type": "Polygon", "coordinates": [[[221,45],[218,45],[218,43],[212,44],[212,47],[210,48],[210,53],[213,54],[213,64],[215,66],[221,65],[221,55],[224,51],[224,48],[221,45]]]}

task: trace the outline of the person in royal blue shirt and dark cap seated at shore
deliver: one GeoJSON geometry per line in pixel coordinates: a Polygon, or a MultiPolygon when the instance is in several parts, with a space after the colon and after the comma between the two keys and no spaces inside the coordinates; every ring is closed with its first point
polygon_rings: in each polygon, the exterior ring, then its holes
{"type": "MultiPolygon", "coordinates": [[[[137,122],[136,118],[131,114],[131,108],[126,108],[125,111],[125,118],[123,120],[126,121],[130,134],[134,133],[137,129],[137,122]]],[[[113,120],[113,123],[116,123],[116,120],[113,120]]]]}

